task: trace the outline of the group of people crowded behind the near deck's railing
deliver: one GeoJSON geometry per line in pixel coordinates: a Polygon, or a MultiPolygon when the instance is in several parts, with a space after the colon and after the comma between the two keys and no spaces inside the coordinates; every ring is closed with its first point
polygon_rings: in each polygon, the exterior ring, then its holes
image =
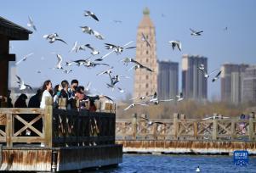
{"type": "Polygon", "coordinates": [[[26,104],[27,96],[24,93],[21,93],[19,98],[15,101],[14,105],[12,100],[9,97],[10,91],[6,98],[1,97],[3,101],[7,102],[8,108],[41,108],[44,109],[46,104],[46,98],[51,97],[54,101],[54,108],[59,108],[59,101],[65,98],[65,108],[66,109],[85,109],[85,104],[88,103],[89,110],[95,111],[96,106],[94,104],[95,100],[100,99],[101,96],[90,97],[85,92],[84,86],[79,86],[79,82],[74,79],[71,81],[71,85],[68,81],[61,81],[61,84],[52,86],[50,80],[44,81],[43,86],[37,90],[37,93],[32,96],[26,104]]]}

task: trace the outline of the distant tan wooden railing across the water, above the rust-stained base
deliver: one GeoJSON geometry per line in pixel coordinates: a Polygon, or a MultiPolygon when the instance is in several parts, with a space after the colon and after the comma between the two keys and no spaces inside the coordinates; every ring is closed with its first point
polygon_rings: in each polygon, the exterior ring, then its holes
{"type": "Polygon", "coordinates": [[[150,124],[138,118],[117,120],[117,140],[198,140],[198,141],[250,141],[256,140],[256,120],[214,119],[195,120],[179,118],[151,120],[150,124]]]}

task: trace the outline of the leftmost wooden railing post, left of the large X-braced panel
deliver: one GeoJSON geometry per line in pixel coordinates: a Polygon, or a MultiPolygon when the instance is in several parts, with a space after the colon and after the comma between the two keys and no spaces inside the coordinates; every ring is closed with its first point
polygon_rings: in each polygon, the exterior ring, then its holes
{"type": "Polygon", "coordinates": [[[13,128],[14,128],[14,124],[13,124],[13,117],[12,114],[6,114],[6,146],[8,148],[12,148],[13,147],[13,142],[12,142],[12,136],[13,136],[13,128]]]}

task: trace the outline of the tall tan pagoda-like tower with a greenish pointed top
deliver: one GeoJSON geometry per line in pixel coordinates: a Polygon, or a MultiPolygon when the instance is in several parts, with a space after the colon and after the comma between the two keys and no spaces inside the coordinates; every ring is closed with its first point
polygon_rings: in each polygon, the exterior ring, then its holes
{"type": "Polygon", "coordinates": [[[150,10],[145,8],[143,14],[137,32],[136,61],[151,68],[154,72],[145,69],[135,71],[134,97],[151,95],[157,92],[156,31],[150,18],[150,10]],[[142,39],[142,35],[145,36],[150,46],[142,39]]]}

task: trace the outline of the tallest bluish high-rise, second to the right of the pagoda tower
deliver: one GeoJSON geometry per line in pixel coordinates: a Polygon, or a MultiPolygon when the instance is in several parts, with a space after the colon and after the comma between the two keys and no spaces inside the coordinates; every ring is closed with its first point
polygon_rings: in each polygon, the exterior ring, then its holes
{"type": "Polygon", "coordinates": [[[208,71],[208,59],[202,56],[188,55],[182,56],[182,92],[184,98],[205,101],[208,98],[207,79],[201,70],[200,64],[204,65],[208,71]]]}

